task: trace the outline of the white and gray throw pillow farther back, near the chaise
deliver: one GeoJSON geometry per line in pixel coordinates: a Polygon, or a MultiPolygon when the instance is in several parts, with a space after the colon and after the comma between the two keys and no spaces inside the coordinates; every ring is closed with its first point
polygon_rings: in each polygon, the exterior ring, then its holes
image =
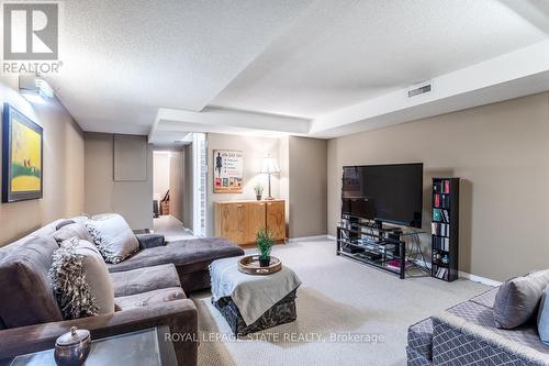
{"type": "Polygon", "coordinates": [[[102,220],[89,220],[86,228],[108,263],[120,263],[139,249],[135,234],[120,214],[102,220]]]}

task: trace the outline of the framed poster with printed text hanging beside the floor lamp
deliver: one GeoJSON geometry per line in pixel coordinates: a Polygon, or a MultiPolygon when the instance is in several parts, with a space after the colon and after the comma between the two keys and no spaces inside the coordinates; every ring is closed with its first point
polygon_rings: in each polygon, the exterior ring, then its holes
{"type": "Polygon", "coordinates": [[[213,192],[242,193],[243,153],[234,149],[213,151],[213,192]]]}

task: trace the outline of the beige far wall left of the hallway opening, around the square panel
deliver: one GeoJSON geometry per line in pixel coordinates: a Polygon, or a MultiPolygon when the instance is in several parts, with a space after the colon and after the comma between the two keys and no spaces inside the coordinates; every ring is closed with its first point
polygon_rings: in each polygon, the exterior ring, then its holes
{"type": "Polygon", "coordinates": [[[86,213],[115,212],[132,229],[153,229],[153,148],[147,146],[147,180],[114,181],[113,136],[85,134],[86,213]]]}

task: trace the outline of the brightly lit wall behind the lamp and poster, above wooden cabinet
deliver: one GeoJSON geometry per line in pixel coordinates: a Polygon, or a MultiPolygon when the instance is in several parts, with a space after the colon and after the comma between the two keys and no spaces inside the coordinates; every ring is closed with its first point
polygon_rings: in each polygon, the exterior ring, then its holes
{"type": "MultiPolygon", "coordinates": [[[[214,217],[213,202],[227,200],[256,199],[254,186],[261,182],[265,186],[264,196],[267,197],[267,175],[259,174],[262,158],[267,155],[279,159],[279,138],[242,136],[209,133],[208,134],[208,235],[213,235],[214,217]],[[213,151],[238,149],[244,156],[244,188],[242,193],[213,192],[213,151]]],[[[280,197],[279,177],[271,176],[272,197],[280,197]]]]}

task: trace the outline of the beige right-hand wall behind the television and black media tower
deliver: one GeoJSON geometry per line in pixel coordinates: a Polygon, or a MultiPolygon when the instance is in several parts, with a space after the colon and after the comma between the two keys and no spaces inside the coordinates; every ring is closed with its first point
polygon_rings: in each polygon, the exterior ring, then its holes
{"type": "Polygon", "coordinates": [[[504,280],[548,268],[548,92],[330,140],[328,232],[339,218],[341,166],[423,162],[425,231],[432,177],[462,178],[461,270],[504,280]]]}

